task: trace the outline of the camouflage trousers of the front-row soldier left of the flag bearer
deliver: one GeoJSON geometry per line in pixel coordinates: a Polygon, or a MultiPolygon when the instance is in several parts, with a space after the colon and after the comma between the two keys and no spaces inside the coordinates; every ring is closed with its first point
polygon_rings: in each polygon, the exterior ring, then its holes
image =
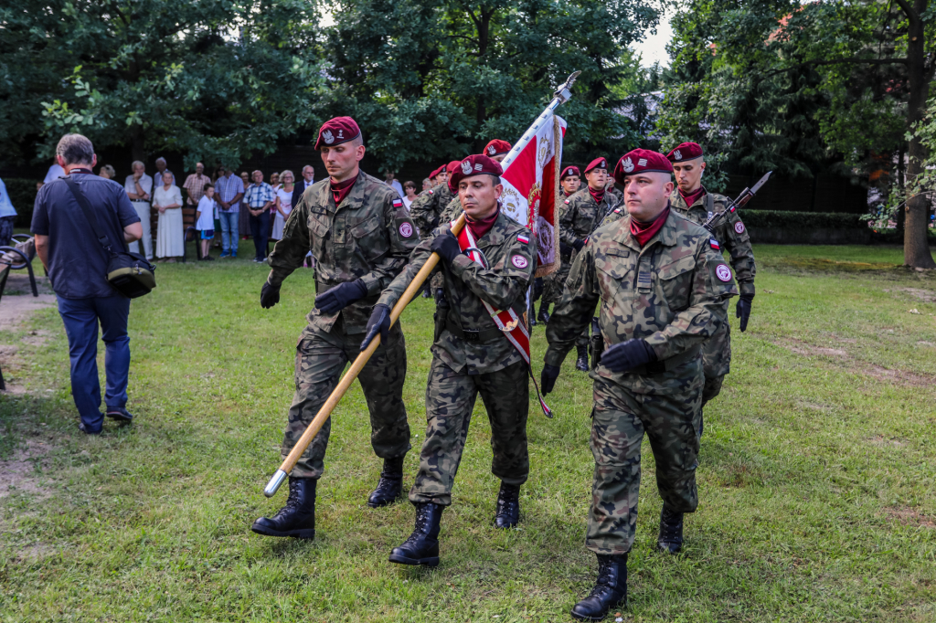
{"type": "MultiPolygon", "coordinates": [[[[289,422],[283,437],[283,456],[289,454],[338,384],[344,366],[360,353],[363,333],[346,335],[341,326],[323,331],[306,326],[296,347],[296,393],[289,407],[289,422]]],[[[400,324],[390,329],[388,343],[381,343],[358,374],[371,413],[371,445],[381,458],[403,456],[410,445],[409,424],[403,406],[406,377],[406,342],[400,324]]],[[[331,418],[315,435],[296,463],[292,476],[321,478],[325,451],[329,446],[331,418]]]]}

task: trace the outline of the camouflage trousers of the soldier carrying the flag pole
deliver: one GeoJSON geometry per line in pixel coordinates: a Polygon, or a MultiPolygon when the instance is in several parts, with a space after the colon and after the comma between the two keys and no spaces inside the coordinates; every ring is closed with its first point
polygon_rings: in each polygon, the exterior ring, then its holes
{"type": "Polygon", "coordinates": [[[527,364],[520,361],[486,374],[456,372],[433,357],[426,385],[426,441],[410,489],[414,503],[452,503],[468,425],[481,395],[490,420],[490,471],[507,485],[522,485],[530,475],[526,420],[530,410],[527,364]]]}

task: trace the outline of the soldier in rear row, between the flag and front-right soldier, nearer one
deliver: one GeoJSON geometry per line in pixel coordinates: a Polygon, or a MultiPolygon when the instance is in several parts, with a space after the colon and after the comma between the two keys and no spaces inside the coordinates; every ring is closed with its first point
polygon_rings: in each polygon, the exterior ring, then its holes
{"type": "MultiPolygon", "coordinates": [[[[552,273],[551,279],[553,287],[558,287],[560,292],[569,275],[569,268],[585,245],[585,240],[618,203],[616,196],[605,191],[606,158],[595,158],[585,167],[585,180],[588,181],[585,188],[565,199],[559,207],[559,249],[562,262],[559,269],[552,273]]],[[[542,309],[541,306],[540,312],[542,309]]],[[[582,372],[588,371],[588,333],[589,325],[586,325],[576,340],[576,369],[582,372]]]]}

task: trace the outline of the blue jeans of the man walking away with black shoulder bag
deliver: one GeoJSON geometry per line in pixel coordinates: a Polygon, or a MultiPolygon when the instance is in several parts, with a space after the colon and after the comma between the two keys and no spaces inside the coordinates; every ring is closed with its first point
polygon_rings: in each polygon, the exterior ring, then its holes
{"type": "Polygon", "coordinates": [[[104,425],[101,407],[101,384],[97,380],[97,323],[101,323],[107,372],[104,404],[126,406],[126,383],[130,373],[130,338],[126,322],[130,299],[58,297],[59,314],[68,335],[68,358],[71,361],[71,395],[88,432],[104,425]]]}

